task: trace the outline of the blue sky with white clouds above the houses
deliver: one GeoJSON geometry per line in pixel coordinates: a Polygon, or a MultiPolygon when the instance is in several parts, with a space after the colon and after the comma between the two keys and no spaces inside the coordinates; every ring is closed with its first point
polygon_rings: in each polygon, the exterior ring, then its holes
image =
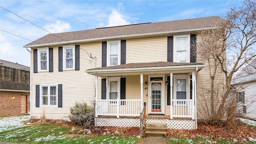
{"type": "Polygon", "coordinates": [[[49,32],[222,17],[241,4],[240,0],[0,0],[0,59],[30,66],[30,53],[23,46],[49,32]]]}

